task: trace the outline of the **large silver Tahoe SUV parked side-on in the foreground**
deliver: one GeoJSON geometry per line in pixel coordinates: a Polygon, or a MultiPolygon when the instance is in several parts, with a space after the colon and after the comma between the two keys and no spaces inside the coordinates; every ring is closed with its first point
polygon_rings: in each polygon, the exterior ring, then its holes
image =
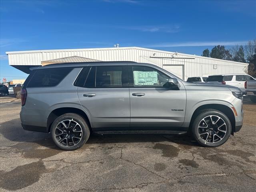
{"type": "Polygon", "coordinates": [[[89,62],[33,68],[22,88],[25,130],[51,133],[63,150],[100,134],[186,134],[208,147],[243,124],[242,92],[185,82],[151,64],[89,62]]]}

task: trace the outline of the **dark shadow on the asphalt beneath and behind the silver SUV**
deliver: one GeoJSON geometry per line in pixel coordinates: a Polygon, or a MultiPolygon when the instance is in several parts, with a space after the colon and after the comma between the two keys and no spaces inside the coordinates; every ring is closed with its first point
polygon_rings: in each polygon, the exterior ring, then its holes
{"type": "MultiPolygon", "coordinates": [[[[1,124],[1,135],[8,142],[26,142],[33,143],[37,146],[58,149],[51,139],[51,135],[41,132],[26,131],[20,125],[20,119],[16,118],[1,124]]],[[[113,143],[140,143],[140,142],[172,142],[182,146],[200,147],[192,137],[188,135],[157,135],[157,134],[115,134],[100,135],[91,134],[86,144],[113,144],[113,143]]],[[[4,140],[2,140],[4,142],[4,140]]],[[[4,145],[4,143],[2,143],[4,145]]]]}

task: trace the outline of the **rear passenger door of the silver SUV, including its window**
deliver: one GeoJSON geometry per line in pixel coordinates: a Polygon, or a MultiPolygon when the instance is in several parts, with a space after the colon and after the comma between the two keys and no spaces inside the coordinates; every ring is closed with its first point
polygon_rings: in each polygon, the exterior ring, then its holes
{"type": "MultiPolygon", "coordinates": [[[[126,65],[88,66],[81,72],[78,98],[91,118],[94,130],[129,128],[130,98],[126,65]]],[[[80,75],[78,76],[80,80],[80,75]]]]}

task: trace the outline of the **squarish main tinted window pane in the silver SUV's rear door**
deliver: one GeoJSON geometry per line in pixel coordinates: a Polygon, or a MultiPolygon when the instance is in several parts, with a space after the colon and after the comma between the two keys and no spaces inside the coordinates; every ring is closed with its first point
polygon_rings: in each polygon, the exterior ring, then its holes
{"type": "Polygon", "coordinates": [[[122,66],[97,66],[96,88],[122,87],[122,66]]]}

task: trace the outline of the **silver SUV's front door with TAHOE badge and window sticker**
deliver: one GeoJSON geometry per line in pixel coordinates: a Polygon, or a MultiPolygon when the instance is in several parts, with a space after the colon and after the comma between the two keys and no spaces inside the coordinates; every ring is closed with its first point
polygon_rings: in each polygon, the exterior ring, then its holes
{"type": "Polygon", "coordinates": [[[186,90],[165,87],[168,74],[148,66],[129,66],[130,127],[161,129],[182,126],[186,90]]]}

